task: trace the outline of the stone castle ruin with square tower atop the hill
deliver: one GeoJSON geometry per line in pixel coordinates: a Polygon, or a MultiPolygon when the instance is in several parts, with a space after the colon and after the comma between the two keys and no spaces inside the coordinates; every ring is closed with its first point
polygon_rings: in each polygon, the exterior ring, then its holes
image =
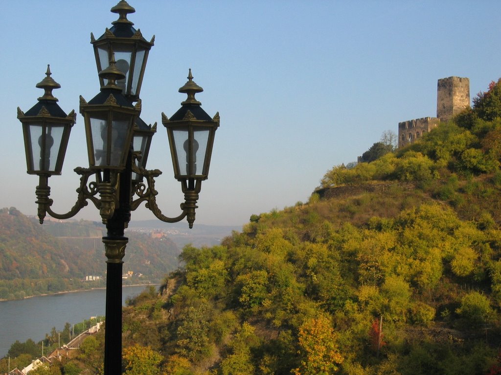
{"type": "Polygon", "coordinates": [[[437,116],[422,117],[398,123],[398,147],[403,147],[419,139],[438,126],[440,121],[448,121],[470,105],[469,78],[441,78],[437,83],[437,116]]]}

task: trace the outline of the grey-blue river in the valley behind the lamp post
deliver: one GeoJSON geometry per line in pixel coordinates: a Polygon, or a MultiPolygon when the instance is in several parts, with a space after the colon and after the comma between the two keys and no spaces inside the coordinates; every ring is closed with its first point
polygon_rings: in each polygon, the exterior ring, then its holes
{"type": "MultiPolygon", "coordinates": [[[[146,286],[124,286],[122,303],[146,286]]],[[[156,285],[158,287],[158,285],[156,285]]],[[[94,289],[54,295],[41,295],[13,301],[0,301],[0,358],[7,355],[16,341],[45,338],[52,327],[63,330],[64,324],[75,324],[91,316],[104,315],[106,290],[94,289]]]]}

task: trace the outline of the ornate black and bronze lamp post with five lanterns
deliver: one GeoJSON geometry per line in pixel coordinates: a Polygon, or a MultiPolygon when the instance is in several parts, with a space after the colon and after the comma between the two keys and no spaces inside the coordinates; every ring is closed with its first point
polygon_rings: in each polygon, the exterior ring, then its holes
{"type": "Polygon", "coordinates": [[[181,213],[165,216],[156,203],[158,191],[155,177],[158,169],[146,169],[151,137],[156,123],[147,125],[139,114],[139,93],[149,50],[139,29],[127,19],[135,9],[125,0],[111,8],[119,14],[110,29],[98,39],[91,33],[94,46],[100,92],[86,101],[80,96],[80,113],[84,117],[89,167],[77,167],[80,175],[77,201],[66,213],[56,213],[51,206],[49,177],[61,174],[63,160],[75,123],[75,111],[66,114],[57,104],[52,90],[61,86],[47,67],[46,77],[37,84],[45,93],[26,113],[18,107],[18,118],[23,125],[27,171],[39,176],[36,188],[38,216],[43,223],[46,214],[58,219],[74,216],[90,200],[99,209],[107,235],[103,237],[107,263],[106,329],[104,373],[116,375],[122,367],[122,264],[128,238],[124,229],[131,211],[142,202],[153,214],[165,222],[177,222],[185,217],[189,227],[195,220],[196,202],[201,181],[207,179],[214,141],[219,126],[219,114],[210,117],[195,99],[203,91],[193,81],[191,69],[188,81],[179,88],[187,98],[169,119],[162,112],[162,123],[167,129],[174,177],[181,182],[184,202],[181,213]],[[135,102],[135,104],[134,104],[135,102]]]}

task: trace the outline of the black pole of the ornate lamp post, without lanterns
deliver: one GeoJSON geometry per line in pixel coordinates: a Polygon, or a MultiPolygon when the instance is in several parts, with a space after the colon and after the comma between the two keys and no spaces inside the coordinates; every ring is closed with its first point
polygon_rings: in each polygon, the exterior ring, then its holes
{"type": "Polygon", "coordinates": [[[124,229],[130,220],[132,151],[126,168],[120,173],[119,205],[108,220],[107,236],[103,237],[106,251],[106,325],[104,338],[104,374],[122,373],[122,258],[128,238],[124,229]]]}

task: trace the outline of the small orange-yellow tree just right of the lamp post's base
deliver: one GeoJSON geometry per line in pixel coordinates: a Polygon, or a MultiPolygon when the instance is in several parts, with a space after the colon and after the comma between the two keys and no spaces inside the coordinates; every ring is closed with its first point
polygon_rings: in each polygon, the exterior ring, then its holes
{"type": "Polygon", "coordinates": [[[158,375],[163,357],[150,346],[134,344],[123,351],[124,375],[158,375]]]}

